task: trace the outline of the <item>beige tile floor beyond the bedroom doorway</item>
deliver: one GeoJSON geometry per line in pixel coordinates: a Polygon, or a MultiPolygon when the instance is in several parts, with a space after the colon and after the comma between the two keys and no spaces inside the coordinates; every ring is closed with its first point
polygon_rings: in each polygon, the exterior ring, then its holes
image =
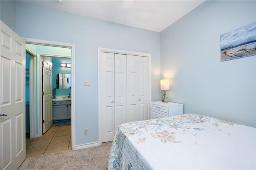
{"type": "MultiPolygon", "coordinates": [[[[26,158],[71,150],[71,125],[52,127],[42,137],[26,137],[26,158]]],[[[26,134],[27,136],[27,134],[26,134]]]]}

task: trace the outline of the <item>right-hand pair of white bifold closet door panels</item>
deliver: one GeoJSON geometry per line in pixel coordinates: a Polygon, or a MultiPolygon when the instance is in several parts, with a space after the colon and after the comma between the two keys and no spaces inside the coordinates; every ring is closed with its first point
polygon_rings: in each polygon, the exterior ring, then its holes
{"type": "Polygon", "coordinates": [[[127,55],[127,122],[148,117],[148,58],[127,55]]]}

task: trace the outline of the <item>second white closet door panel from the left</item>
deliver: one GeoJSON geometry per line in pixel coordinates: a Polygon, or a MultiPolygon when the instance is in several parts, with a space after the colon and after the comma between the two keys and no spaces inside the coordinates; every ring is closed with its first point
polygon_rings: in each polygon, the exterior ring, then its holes
{"type": "Polygon", "coordinates": [[[126,55],[115,54],[115,129],[127,122],[126,55]]]}

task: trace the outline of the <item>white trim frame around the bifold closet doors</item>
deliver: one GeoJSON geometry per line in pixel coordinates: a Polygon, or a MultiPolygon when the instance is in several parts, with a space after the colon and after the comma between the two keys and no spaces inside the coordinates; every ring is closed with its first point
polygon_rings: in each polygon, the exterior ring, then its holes
{"type": "MultiPolygon", "coordinates": [[[[148,57],[148,110],[150,110],[150,101],[151,101],[151,54],[150,53],[141,53],[136,51],[125,51],[125,50],[118,50],[118,49],[108,49],[108,48],[98,48],[98,128],[99,128],[99,145],[102,144],[102,95],[101,89],[103,84],[101,83],[101,59],[102,59],[102,52],[106,53],[118,53],[124,55],[136,55],[136,56],[143,56],[148,57]]],[[[150,113],[148,113],[148,117],[150,117],[150,113]]]]}

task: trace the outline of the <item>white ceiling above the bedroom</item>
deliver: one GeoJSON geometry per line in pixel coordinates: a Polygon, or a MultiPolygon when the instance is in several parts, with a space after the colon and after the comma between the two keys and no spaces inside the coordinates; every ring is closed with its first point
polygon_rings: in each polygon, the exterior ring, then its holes
{"type": "Polygon", "coordinates": [[[160,32],[205,0],[17,0],[160,32]]]}

